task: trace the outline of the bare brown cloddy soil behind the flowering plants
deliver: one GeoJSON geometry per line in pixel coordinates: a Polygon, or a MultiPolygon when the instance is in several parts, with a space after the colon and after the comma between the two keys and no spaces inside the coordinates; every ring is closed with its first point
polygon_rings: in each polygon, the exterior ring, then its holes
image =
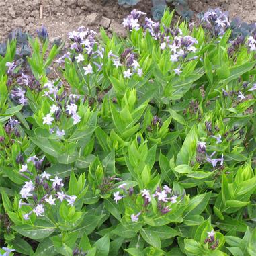
{"type": "MultiPolygon", "coordinates": [[[[256,0],[189,0],[194,19],[201,11],[220,7],[231,17],[241,17],[245,22],[256,22],[256,0]]],[[[0,42],[13,28],[34,34],[46,26],[51,40],[67,38],[67,33],[85,26],[99,31],[103,26],[109,32],[126,34],[122,24],[133,8],[119,7],[118,0],[0,0],[0,42]]],[[[151,0],[141,0],[136,9],[148,13],[151,0]]]]}

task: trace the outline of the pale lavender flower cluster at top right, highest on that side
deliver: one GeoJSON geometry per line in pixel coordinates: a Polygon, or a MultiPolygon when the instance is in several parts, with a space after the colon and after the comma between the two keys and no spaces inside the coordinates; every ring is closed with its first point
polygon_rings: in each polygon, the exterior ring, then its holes
{"type": "Polygon", "coordinates": [[[220,9],[210,9],[201,17],[201,24],[206,30],[210,30],[214,36],[222,36],[230,28],[228,13],[220,9]]]}

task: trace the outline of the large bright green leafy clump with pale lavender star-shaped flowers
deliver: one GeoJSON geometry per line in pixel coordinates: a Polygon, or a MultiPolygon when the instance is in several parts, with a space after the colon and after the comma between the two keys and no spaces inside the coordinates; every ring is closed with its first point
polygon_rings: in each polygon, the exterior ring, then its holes
{"type": "Polygon", "coordinates": [[[61,55],[45,30],[25,62],[7,44],[1,253],[256,254],[256,36],[144,14],[61,55]]]}

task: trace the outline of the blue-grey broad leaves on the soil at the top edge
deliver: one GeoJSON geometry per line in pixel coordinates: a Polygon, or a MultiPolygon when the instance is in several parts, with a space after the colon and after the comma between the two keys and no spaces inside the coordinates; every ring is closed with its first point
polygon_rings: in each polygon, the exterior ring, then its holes
{"type": "MultiPolygon", "coordinates": [[[[138,2],[140,2],[140,0],[118,0],[118,4],[123,7],[131,7],[138,2]]],[[[175,11],[184,19],[189,20],[193,15],[193,11],[189,9],[187,0],[151,0],[151,3],[153,5],[151,13],[155,20],[159,20],[163,17],[167,3],[171,3],[171,5],[175,7],[175,11]]]]}

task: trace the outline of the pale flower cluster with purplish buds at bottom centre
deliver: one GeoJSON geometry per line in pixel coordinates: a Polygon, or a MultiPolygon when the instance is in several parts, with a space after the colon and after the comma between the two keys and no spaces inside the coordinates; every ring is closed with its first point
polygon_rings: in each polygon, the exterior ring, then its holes
{"type": "MultiPolygon", "coordinates": [[[[134,189],[130,187],[126,189],[127,184],[123,183],[118,186],[118,189],[122,189],[122,191],[114,192],[114,200],[116,204],[119,200],[126,196],[132,196],[134,194],[134,189]]],[[[156,198],[157,200],[157,208],[161,214],[167,214],[171,211],[171,204],[177,203],[177,196],[173,194],[173,191],[167,185],[163,185],[163,189],[161,187],[157,187],[157,190],[151,194],[151,191],[148,189],[143,189],[136,196],[141,196],[144,200],[144,204],[142,205],[142,210],[138,213],[134,213],[130,216],[132,222],[137,222],[138,218],[141,214],[146,212],[146,208],[148,208],[151,203],[152,198],[156,198]]]]}

